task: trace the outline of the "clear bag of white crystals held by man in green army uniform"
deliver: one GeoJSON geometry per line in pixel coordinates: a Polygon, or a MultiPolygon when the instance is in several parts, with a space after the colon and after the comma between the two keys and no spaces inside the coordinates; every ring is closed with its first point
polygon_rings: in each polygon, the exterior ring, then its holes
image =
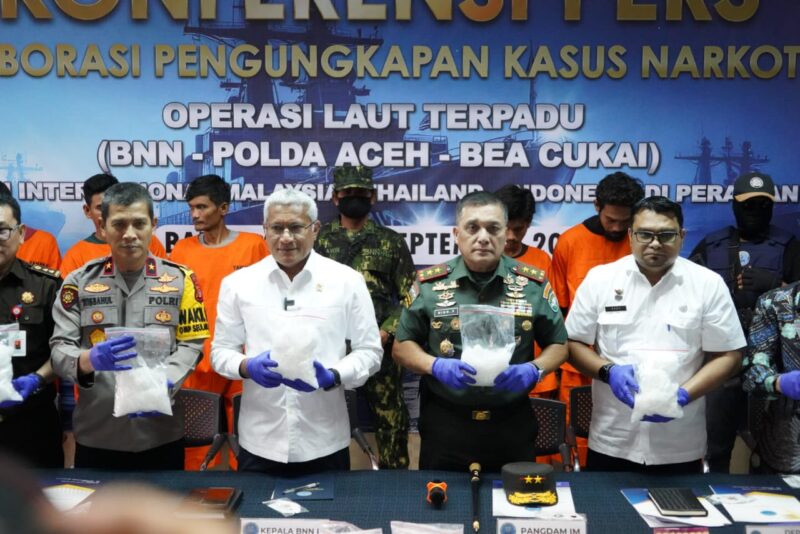
{"type": "Polygon", "coordinates": [[[475,386],[494,386],[514,353],[514,314],[494,306],[461,306],[461,361],[476,371],[475,386]]]}

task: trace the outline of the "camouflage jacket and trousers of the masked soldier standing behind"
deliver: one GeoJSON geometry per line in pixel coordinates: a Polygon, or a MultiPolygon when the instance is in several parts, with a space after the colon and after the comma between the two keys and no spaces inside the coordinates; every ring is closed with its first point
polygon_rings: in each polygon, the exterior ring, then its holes
{"type": "MultiPolygon", "coordinates": [[[[359,231],[348,231],[334,221],[322,226],[314,249],[364,276],[380,329],[394,335],[402,301],[409,298],[416,279],[403,237],[371,220],[359,231]]],[[[383,349],[381,369],[367,380],[363,391],[375,414],[380,467],[407,469],[409,421],[402,369],[392,359],[391,338],[383,349]]]]}

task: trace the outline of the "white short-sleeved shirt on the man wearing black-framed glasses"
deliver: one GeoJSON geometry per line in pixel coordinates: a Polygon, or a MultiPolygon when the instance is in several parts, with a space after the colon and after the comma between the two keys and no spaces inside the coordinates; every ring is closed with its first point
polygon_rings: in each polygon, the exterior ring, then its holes
{"type": "MultiPolygon", "coordinates": [[[[571,340],[618,364],[658,365],[685,383],[705,352],[746,345],[733,301],[715,272],[677,258],[654,286],[632,255],[589,271],[567,316],[571,340]]],[[[631,409],[608,384],[592,382],[589,448],[639,464],[698,460],[706,452],[705,399],[668,423],[631,423],[631,409]]]]}

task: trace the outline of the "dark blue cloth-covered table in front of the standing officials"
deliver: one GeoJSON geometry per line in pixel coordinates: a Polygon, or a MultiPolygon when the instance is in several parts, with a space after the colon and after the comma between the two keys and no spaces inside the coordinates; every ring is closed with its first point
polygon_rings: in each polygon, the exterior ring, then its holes
{"type": "MultiPolygon", "coordinates": [[[[243,491],[238,508],[240,517],[280,518],[262,504],[268,500],[275,479],[267,475],[230,471],[206,472],[105,472],[86,469],[44,470],[43,479],[70,477],[110,481],[149,482],[158,487],[185,493],[191,488],[205,486],[234,486],[243,491]]],[[[480,488],[481,532],[496,532],[492,516],[492,480],[497,473],[484,473],[480,488]]],[[[786,494],[800,496],[800,490],[790,488],[776,475],[670,475],[645,476],[635,473],[556,473],[558,481],[568,481],[575,509],[586,514],[588,531],[595,533],[652,532],[620,493],[622,488],[690,487],[701,495],[711,493],[709,484],[780,487],[786,494]]],[[[390,521],[417,523],[460,523],[464,532],[472,532],[472,497],[469,473],[445,471],[346,471],[334,475],[332,500],[303,501],[309,513],[299,519],[332,519],[348,521],[361,528],[383,528],[389,534],[390,521]],[[447,482],[448,501],[440,510],[426,501],[426,484],[439,479],[447,482]]],[[[745,531],[744,524],[711,529],[713,532],[745,531]]]]}

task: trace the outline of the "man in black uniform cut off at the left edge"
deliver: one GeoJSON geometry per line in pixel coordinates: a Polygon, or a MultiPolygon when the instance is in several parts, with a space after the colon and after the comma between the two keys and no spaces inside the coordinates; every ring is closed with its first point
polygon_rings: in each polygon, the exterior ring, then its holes
{"type": "Polygon", "coordinates": [[[17,259],[25,226],[17,201],[0,195],[0,324],[19,332],[0,335],[14,350],[14,389],[21,401],[0,403],[0,447],[36,467],[63,467],[61,424],[50,365],[53,302],[58,271],[17,259]]]}

